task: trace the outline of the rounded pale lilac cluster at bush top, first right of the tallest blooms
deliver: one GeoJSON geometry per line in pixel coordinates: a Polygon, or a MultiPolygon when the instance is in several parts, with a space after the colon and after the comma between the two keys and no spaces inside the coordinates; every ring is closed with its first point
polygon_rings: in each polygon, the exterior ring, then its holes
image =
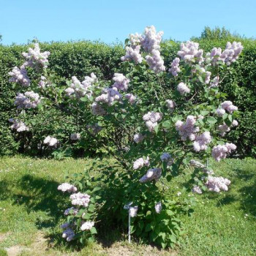
{"type": "Polygon", "coordinates": [[[178,56],[186,62],[196,62],[200,64],[203,61],[203,50],[198,49],[197,42],[188,41],[181,43],[181,50],[178,51],[178,56]]]}

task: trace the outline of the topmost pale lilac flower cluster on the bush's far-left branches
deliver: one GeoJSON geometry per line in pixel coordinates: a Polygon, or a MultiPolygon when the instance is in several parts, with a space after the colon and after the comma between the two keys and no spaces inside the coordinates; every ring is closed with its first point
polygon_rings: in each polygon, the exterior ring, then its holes
{"type": "Polygon", "coordinates": [[[45,51],[41,53],[38,43],[34,44],[34,49],[29,48],[29,53],[22,53],[22,55],[27,60],[24,63],[25,66],[29,66],[37,71],[48,66],[50,52],[45,51]]]}

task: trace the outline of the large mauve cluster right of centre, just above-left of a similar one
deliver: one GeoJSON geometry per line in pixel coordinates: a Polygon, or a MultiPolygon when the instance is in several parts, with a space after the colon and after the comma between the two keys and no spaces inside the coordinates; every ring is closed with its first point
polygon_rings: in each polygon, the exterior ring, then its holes
{"type": "Polygon", "coordinates": [[[181,135],[181,140],[195,140],[195,133],[199,132],[199,127],[195,127],[196,118],[195,116],[187,116],[187,120],[184,123],[183,121],[176,121],[176,130],[178,134],[181,135]]]}

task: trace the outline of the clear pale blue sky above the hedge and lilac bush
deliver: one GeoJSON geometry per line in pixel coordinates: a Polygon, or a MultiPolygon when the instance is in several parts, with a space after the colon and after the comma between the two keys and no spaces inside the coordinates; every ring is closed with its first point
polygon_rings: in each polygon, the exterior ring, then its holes
{"type": "Polygon", "coordinates": [[[204,26],[225,26],[256,37],[256,0],[0,0],[2,43],[101,39],[123,42],[156,26],[165,39],[200,36],[204,26]]]}

